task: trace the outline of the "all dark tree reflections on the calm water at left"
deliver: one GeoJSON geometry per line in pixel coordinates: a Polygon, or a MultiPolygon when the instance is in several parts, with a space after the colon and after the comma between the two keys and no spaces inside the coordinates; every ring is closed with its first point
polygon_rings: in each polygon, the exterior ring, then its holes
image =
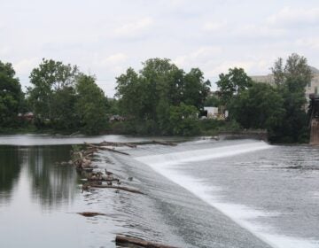
{"type": "Polygon", "coordinates": [[[23,187],[43,208],[69,204],[77,190],[77,174],[73,167],[56,164],[68,159],[69,145],[0,146],[0,202],[8,203],[19,190],[15,188],[23,187]]]}

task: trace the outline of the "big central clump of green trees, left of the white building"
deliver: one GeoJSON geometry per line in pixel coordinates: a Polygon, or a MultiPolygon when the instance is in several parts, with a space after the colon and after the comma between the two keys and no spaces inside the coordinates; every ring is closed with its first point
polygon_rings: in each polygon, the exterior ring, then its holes
{"type": "Polygon", "coordinates": [[[210,82],[204,81],[198,68],[185,74],[167,58],[151,58],[143,66],[139,74],[128,68],[126,74],[116,79],[115,96],[119,98],[121,113],[136,125],[137,133],[181,134],[170,124],[172,111],[177,112],[174,107],[184,110],[189,105],[199,111],[209,93],[210,82]]]}

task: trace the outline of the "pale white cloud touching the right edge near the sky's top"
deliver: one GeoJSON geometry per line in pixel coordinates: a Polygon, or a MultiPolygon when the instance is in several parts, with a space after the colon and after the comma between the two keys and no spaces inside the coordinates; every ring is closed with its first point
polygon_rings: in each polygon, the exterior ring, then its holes
{"type": "Polygon", "coordinates": [[[270,25],[279,26],[319,24],[319,8],[284,7],[280,12],[268,17],[267,21],[270,25]]]}

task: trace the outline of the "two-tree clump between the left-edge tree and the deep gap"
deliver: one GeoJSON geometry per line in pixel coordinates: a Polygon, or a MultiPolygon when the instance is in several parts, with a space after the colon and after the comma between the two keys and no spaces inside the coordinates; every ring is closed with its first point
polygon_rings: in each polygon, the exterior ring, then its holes
{"type": "Polygon", "coordinates": [[[93,77],[77,66],[43,58],[30,74],[28,103],[38,128],[98,134],[107,128],[107,99],[93,77]]]}

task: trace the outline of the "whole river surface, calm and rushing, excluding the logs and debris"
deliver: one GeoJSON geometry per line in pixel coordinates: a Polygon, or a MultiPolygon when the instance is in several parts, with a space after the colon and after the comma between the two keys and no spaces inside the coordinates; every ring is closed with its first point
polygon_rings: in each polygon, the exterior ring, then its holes
{"type": "Polygon", "coordinates": [[[319,247],[318,147],[197,139],[100,151],[97,170],[145,195],[82,193],[74,167],[56,162],[72,143],[102,140],[152,138],[0,137],[1,247],[116,247],[116,234],[178,247],[319,247]]]}

